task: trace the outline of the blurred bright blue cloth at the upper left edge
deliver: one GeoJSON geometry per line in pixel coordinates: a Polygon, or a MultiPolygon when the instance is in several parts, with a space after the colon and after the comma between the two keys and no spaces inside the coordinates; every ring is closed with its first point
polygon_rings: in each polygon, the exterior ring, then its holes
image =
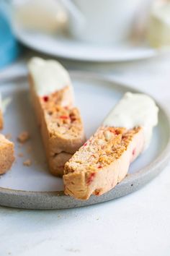
{"type": "Polygon", "coordinates": [[[0,69],[16,59],[22,47],[12,33],[9,20],[0,10],[0,69]]]}

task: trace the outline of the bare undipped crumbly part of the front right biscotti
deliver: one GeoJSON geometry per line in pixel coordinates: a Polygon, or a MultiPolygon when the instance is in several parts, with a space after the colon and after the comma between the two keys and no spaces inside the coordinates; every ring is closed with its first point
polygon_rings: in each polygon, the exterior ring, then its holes
{"type": "Polygon", "coordinates": [[[109,191],[125,178],[143,144],[143,128],[100,127],[66,163],[66,195],[87,200],[109,191]]]}

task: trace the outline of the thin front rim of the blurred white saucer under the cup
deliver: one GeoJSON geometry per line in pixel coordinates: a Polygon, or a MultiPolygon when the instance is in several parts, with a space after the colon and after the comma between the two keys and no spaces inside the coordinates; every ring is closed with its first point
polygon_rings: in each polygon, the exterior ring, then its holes
{"type": "MultiPolygon", "coordinates": [[[[143,59],[150,59],[150,58],[159,56],[161,53],[164,52],[164,49],[156,49],[156,48],[152,48],[152,47],[148,46],[148,48],[141,47],[143,49],[146,49],[145,54],[139,54],[137,56],[126,56],[125,58],[118,58],[118,57],[113,57],[113,56],[111,58],[108,58],[108,56],[95,56],[94,57],[92,55],[91,56],[86,56],[86,55],[73,56],[72,54],[68,55],[68,54],[65,54],[64,52],[61,53],[60,51],[53,53],[52,51],[48,50],[48,48],[44,51],[39,46],[30,43],[30,41],[27,40],[23,34],[23,33],[27,33],[27,29],[24,29],[22,26],[18,25],[17,22],[14,22],[12,28],[13,28],[14,35],[17,37],[17,39],[19,40],[20,43],[24,44],[24,46],[27,46],[27,47],[31,48],[32,50],[38,51],[42,54],[48,54],[50,56],[55,56],[55,57],[59,57],[59,58],[67,59],[67,60],[83,61],[83,62],[89,61],[89,62],[94,62],[94,63],[97,61],[100,61],[102,63],[106,63],[106,62],[116,63],[116,62],[128,62],[128,61],[138,61],[138,60],[143,60],[143,59]]],[[[56,40],[59,42],[57,37],[56,37],[56,40]]]]}

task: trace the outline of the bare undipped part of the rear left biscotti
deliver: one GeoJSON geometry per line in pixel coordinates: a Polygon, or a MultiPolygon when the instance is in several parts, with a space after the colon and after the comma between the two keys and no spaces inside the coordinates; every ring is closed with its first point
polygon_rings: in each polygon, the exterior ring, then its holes
{"type": "Polygon", "coordinates": [[[48,163],[51,173],[57,176],[63,175],[66,161],[79,150],[85,140],[79,109],[61,106],[60,99],[57,93],[38,98],[43,112],[41,131],[48,163]]]}

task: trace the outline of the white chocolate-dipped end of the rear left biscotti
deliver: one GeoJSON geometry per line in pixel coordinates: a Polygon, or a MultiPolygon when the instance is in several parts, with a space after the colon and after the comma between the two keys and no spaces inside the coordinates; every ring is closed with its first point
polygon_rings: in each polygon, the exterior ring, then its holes
{"type": "Polygon", "coordinates": [[[73,106],[73,86],[66,69],[53,59],[45,60],[33,57],[28,63],[32,90],[39,97],[46,97],[62,92],[58,96],[61,106],[73,106]]]}

